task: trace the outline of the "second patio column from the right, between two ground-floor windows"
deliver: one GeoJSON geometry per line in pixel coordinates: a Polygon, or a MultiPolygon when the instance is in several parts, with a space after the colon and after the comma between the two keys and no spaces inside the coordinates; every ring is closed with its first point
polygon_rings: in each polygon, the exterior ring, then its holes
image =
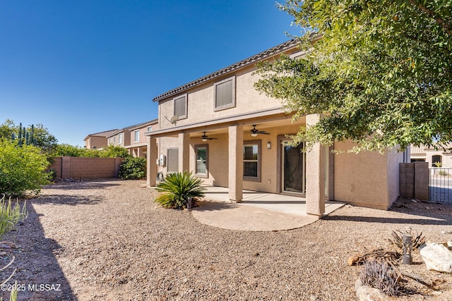
{"type": "Polygon", "coordinates": [[[243,126],[229,127],[229,199],[243,199],[243,126]]]}

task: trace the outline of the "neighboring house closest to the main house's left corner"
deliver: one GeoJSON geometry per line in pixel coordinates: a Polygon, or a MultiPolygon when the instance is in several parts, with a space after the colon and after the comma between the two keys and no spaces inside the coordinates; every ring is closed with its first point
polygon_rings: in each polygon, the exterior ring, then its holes
{"type": "MultiPolygon", "coordinates": [[[[137,125],[132,125],[129,127],[130,132],[130,143],[126,145],[126,149],[129,149],[129,154],[132,156],[147,156],[148,149],[148,136],[145,133],[150,133],[153,130],[158,129],[158,119],[153,119],[152,121],[147,121],[145,123],[140,123],[137,125]]],[[[155,149],[157,151],[157,149],[155,149]]]]}

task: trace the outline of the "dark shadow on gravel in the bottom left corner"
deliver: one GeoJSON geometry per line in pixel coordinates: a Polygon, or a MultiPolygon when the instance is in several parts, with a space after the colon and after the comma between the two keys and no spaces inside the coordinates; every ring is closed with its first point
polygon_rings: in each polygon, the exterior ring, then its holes
{"type": "MultiPolygon", "coordinates": [[[[1,280],[4,281],[17,269],[7,285],[11,288],[17,281],[20,288],[18,300],[77,300],[57,262],[61,246],[55,240],[45,237],[39,215],[32,204],[27,209],[28,218],[3,239],[16,245],[12,250],[6,250],[16,259],[11,266],[0,272],[1,280]]],[[[8,262],[5,259],[6,256],[0,257],[1,264],[8,262]]],[[[8,286],[1,287],[0,297],[9,300],[9,292],[4,291],[6,287],[8,286]]]]}

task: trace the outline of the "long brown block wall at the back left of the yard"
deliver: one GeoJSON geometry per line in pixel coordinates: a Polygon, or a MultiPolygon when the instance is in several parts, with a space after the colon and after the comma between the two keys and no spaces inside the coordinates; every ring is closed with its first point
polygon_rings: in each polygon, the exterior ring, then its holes
{"type": "Polygon", "coordinates": [[[50,168],[57,171],[57,178],[102,179],[117,178],[122,158],[84,158],[58,156],[50,168]]]}

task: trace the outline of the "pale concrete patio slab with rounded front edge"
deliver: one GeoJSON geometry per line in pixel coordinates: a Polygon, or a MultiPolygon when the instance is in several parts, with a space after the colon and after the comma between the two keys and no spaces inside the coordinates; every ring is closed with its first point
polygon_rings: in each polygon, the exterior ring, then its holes
{"type": "MultiPolygon", "coordinates": [[[[282,231],[314,223],[318,216],[306,214],[306,199],[290,195],[244,190],[243,201],[230,202],[227,188],[206,187],[206,196],[192,210],[201,223],[239,231],[282,231]]],[[[326,214],[345,205],[326,201],[326,214]]]]}

